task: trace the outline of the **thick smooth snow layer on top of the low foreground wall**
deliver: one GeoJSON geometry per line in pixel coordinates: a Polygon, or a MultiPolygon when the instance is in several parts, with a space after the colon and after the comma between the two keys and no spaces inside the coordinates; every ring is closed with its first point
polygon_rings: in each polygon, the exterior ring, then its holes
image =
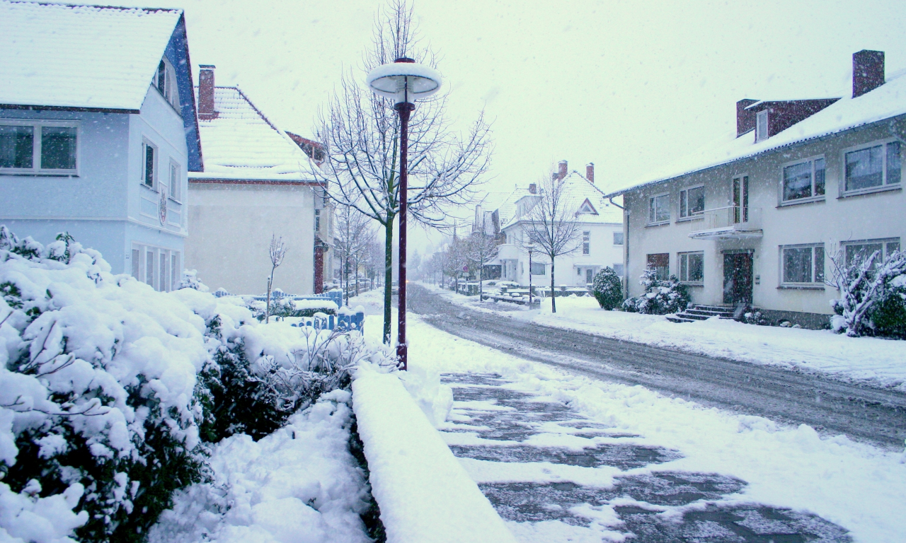
{"type": "Polygon", "coordinates": [[[352,395],[389,543],[515,543],[396,374],[362,366],[352,395]]]}

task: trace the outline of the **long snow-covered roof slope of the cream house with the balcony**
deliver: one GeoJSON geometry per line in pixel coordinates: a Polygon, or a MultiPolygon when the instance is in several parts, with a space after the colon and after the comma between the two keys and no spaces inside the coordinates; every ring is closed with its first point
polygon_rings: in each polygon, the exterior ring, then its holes
{"type": "Polygon", "coordinates": [[[847,96],[837,100],[811,117],[757,143],[751,133],[739,138],[735,132],[729,133],[666,167],[661,167],[619,190],[612,191],[609,195],[620,195],[641,186],[903,114],[906,114],[906,74],[889,78],[882,86],[857,98],[847,96]]]}

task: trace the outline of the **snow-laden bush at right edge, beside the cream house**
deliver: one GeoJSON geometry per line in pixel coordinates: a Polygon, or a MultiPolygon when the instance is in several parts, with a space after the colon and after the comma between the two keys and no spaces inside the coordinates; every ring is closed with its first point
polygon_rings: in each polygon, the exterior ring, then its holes
{"type": "Polygon", "coordinates": [[[906,338],[906,252],[895,251],[878,263],[873,252],[863,262],[846,265],[843,253],[831,258],[828,283],[840,292],[831,300],[831,328],[850,337],[906,338]]]}

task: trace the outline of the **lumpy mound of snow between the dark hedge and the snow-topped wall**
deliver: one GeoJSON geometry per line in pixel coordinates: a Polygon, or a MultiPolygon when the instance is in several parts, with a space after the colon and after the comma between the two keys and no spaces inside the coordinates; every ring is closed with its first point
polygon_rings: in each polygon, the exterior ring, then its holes
{"type": "Polygon", "coordinates": [[[370,541],[359,518],[367,487],[347,447],[351,397],[322,395],[258,442],[237,434],[217,443],[212,481],[180,491],[149,541],[370,541]]]}

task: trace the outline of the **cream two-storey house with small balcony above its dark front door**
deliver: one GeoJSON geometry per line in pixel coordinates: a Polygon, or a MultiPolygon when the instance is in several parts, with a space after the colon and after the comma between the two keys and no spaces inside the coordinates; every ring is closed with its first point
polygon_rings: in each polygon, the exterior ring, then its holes
{"type": "Polygon", "coordinates": [[[739,100],[737,130],[622,195],[628,291],[646,267],[699,304],[749,303],[821,327],[837,292],[829,259],[901,247],[906,77],[853,54],[853,89],[819,100],[739,100]]]}

